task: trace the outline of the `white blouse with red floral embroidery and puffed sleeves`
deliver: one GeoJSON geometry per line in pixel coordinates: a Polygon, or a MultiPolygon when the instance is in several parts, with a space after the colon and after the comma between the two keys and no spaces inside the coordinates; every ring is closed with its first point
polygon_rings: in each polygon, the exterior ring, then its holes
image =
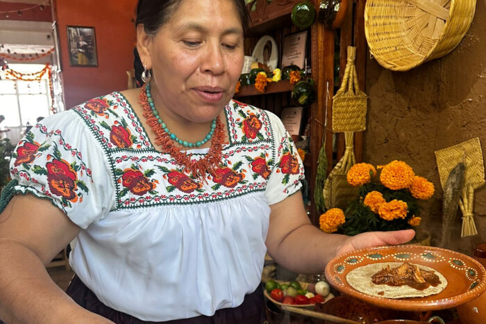
{"type": "Polygon", "coordinates": [[[144,321],[237,307],[260,283],[269,205],[299,190],[303,166],[274,114],[225,111],[229,144],[206,182],[158,152],[113,92],[33,127],[10,164],[12,193],[47,198],[81,227],[70,264],[109,307],[144,321]]]}

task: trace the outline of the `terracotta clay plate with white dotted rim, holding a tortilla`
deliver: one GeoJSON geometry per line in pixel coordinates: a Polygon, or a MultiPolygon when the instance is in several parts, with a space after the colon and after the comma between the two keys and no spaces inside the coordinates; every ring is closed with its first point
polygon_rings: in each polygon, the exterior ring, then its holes
{"type": "Polygon", "coordinates": [[[326,266],[326,278],[338,291],[372,305],[402,311],[447,309],[477,298],[486,290],[486,270],[465,254],[423,245],[394,245],[366,248],[341,254],[326,266]],[[442,273],[448,282],[436,295],[419,298],[389,299],[361,293],[346,282],[355,268],[382,262],[410,262],[442,273]]]}

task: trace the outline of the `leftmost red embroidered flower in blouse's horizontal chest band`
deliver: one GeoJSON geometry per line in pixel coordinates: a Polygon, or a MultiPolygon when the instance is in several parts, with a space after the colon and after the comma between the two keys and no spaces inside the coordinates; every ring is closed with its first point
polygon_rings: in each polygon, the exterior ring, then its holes
{"type": "Polygon", "coordinates": [[[149,179],[154,173],[153,170],[146,170],[142,173],[135,165],[123,171],[117,169],[116,174],[121,175],[118,181],[121,181],[121,184],[125,187],[121,191],[120,196],[123,197],[128,191],[139,196],[145,195],[146,193],[150,193],[151,195],[157,194],[157,191],[154,191],[154,189],[158,181],[149,179]]]}

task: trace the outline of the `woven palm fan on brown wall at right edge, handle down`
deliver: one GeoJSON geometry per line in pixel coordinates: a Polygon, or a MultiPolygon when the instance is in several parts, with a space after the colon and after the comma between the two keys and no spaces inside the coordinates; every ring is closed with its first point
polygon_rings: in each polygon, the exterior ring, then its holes
{"type": "Polygon", "coordinates": [[[440,149],[435,152],[439,167],[440,183],[445,188],[449,174],[455,165],[462,162],[465,165],[464,185],[459,200],[462,211],[461,236],[478,234],[474,223],[474,191],[485,184],[485,167],[483,150],[479,138],[467,140],[464,143],[440,149]]]}

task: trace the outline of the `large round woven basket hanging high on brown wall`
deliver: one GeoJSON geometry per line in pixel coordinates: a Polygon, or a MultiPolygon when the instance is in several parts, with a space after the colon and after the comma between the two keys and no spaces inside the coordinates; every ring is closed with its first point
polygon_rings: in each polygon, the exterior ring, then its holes
{"type": "Polygon", "coordinates": [[[475,10],[476,0],[367,0],[364,33],[380,65],[408,71],[458,46],[475,10]]]}

